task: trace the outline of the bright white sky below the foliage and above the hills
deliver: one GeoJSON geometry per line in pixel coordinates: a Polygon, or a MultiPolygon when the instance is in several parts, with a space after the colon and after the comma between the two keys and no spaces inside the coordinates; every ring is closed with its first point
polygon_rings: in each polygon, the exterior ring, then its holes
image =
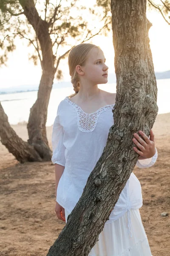
{"type": "MultiPolygon", "coordinates": [[[[147,18],[153,24],[149,30],[149,38],[154,70],[155,72],[170,70],[170,25],[155,10],[147,10],[147,18]]],[[[112,31],[107,37],[94,37],[90,43],[101,47],[105,54],[106,64],[109,67],[109,73],[114,73],[112,31]]],[[[8,55],[7,67],[0,67],[0,88],[39,84],[42,70],[40,65],[34,66],[33,62],[28,60],[29,50],[27,41],[21,39],[17,41],[17,49],[8,55]]],[[[64,75],[62,81],[70,81],[67,61],[68,58],[65,58],[59,66],[64,75]]],[[[54,79],[55,82],[57,82],[56,79],[54,79]]]]}

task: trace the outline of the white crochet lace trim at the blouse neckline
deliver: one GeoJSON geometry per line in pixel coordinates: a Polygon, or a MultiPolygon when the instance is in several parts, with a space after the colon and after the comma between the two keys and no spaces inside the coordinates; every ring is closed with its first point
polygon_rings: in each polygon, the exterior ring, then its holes
{"type": "Polygon", "coordinates": [[[104,106],[102,108],[99,108],[94,113],[85,113],[82,110],[82,108],[80,108],[77,104],[72,102],[68,98],[68,96],[65,97],[65,100],[76,109],[77,115],[78,115],[78,128],[82,132],[94,131],[94,129],[95,129],[96,125],[97,125],[97,120],[98,120],[99,115],[103,111],[106,111],[106,110],[108,110],[110,108],[113,108],[113,106],[115,105],[115,104],[111,104],[111,105],[104,106]]]}

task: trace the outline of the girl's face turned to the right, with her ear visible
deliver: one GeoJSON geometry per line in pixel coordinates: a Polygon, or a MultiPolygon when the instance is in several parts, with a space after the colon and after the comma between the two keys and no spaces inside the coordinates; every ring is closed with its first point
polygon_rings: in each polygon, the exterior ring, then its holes
{"type": "Polygon", "coordinates": [[[108,66],[106,66],[105,61],[105,56],[101,49],[92,49],[85,65],[81,66],[83,71],[81,76],[94,85],[106,84],[108,82],[108,66]]]}

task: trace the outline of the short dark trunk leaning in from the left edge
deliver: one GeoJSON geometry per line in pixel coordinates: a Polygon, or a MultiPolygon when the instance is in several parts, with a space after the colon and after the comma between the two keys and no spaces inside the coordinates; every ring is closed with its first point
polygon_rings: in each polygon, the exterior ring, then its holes
{"type": "Polygon", "coordinates": [[[8,117],[0,104],[0,137],[1,143],[8,148],[20,163],[26,161],[42,161],[41,157],[33,146],[23,141],[11,128],[8,117]]]}

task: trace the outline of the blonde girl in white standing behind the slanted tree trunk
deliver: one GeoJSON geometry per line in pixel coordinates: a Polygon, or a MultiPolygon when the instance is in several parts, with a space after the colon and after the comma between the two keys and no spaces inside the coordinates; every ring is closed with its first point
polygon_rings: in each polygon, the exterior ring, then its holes
{"type": "MultiPolygon", "coordinates": [[[[115,93],[98,88],[108,81],[108,67],[102,50],[93,44],[79,44],[68,57],[68,65],[75,93],[58,106],[52,133],[55,165],[57,217],[67,217],[82,195],[88,176],[93,171],[106,145],[113,125],[112,109],[115,93]]],[[[153,131],[148,138],[134,134],[134,151],[139,154],[139,168],[152,166],[157,151],[153,131]]],[[[139,208],[142,192],[139,180],[131,173],[99,241],[89,256],[151,256],[139,208]]]]}

